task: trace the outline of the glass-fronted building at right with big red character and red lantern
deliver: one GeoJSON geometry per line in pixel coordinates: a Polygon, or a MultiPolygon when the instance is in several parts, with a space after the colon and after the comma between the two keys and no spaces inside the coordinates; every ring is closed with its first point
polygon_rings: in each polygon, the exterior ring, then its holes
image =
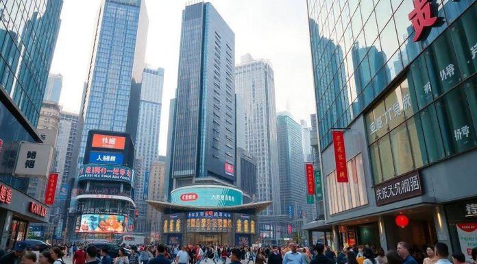
{"type": "Polygon", "coordinates": [[[471,261],[476,1],[307,2],[325,210],[306,229],[334,248],[439,241],[471,261]]]}

